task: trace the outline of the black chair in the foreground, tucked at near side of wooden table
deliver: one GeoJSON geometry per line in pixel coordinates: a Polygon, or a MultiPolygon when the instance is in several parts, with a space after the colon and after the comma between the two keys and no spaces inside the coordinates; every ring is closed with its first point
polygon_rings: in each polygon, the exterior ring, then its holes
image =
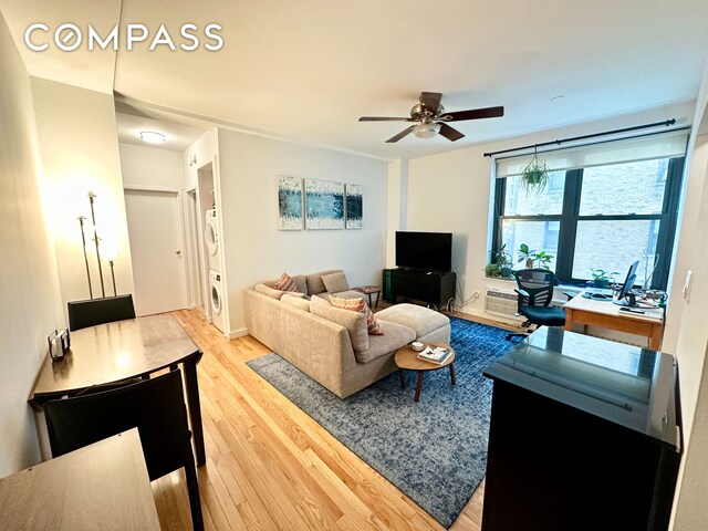
{"type": "Polygon", "coordinates": [[[112,391],[91,387],[81,396],[48,402],[44,416],[53,457],[137,427],[150,481],[184,467],[191,523],[195,530],[204,530],[180,371],[112,391]]]}

